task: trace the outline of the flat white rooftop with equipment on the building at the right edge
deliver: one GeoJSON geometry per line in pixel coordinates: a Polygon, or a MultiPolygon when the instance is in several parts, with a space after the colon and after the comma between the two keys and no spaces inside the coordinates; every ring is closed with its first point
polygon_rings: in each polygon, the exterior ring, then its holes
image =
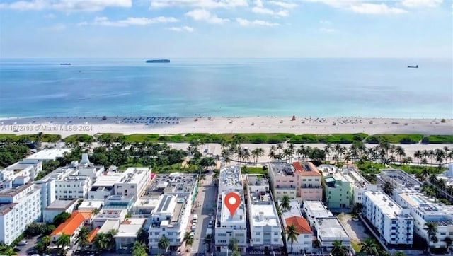
{"type": "Polygon", "coordinates": [[[453,216],[453,206],[436,203],[435,199],[426,197],[419,192],[403,192],[399,196],[408,204],[425,214],[438,214],[453,216]]]}

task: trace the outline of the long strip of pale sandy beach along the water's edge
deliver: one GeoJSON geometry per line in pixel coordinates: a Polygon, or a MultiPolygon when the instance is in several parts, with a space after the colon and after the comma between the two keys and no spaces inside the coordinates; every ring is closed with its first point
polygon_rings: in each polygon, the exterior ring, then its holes
{"type": "Polygon", "coordinates": [[[362,117],[9,117],[0,134],[453,134],[453,120],[362,117]]]}

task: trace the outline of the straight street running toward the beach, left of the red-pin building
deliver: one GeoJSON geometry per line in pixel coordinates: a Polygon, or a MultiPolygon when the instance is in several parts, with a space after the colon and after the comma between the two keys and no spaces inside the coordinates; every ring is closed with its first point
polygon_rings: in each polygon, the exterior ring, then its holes
{"type": "Polygon", "coordinates": [[[195,240],[192,245],[190,255],[197,253],[205,254],[205,236],[207,225],[210,222],[211,216],[215,216],[215,206],[217,202],[217,187],[212,183],[212,173],[206,175],[206,180],[199,188],[196,201],[199,202],[199,207],[195,208],[194,214],[198,215],[198,223],[195,228],[195,240]]]}

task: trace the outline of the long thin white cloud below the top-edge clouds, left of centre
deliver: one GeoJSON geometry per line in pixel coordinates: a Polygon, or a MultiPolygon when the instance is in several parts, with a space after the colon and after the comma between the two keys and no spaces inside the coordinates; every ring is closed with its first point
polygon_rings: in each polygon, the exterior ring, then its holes
{"type": "MultiPolygon", "coordinates": [[[[149,25],[154,23],[172,23],[178,20],[173,17],[156,17],[156,18],[144,18],[144,17],[129,17],[124,20],[110,21],[107,17],[96,17],[93,21],[93,25],[105,25],[111,27],[127,27],[129,25],[149,25]]],[[[79,25],[86,25],[79,23],[79,25]]]]}

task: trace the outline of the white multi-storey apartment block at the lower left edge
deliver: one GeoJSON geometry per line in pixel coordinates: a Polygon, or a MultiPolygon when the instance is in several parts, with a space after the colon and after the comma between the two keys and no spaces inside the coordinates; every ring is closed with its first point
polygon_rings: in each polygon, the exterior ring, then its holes
{"type": "Polygon", "coordinates": [[[0,190],[0,242],[11,244],[41,214],[40,187],[28,183],[0,190]]]}

